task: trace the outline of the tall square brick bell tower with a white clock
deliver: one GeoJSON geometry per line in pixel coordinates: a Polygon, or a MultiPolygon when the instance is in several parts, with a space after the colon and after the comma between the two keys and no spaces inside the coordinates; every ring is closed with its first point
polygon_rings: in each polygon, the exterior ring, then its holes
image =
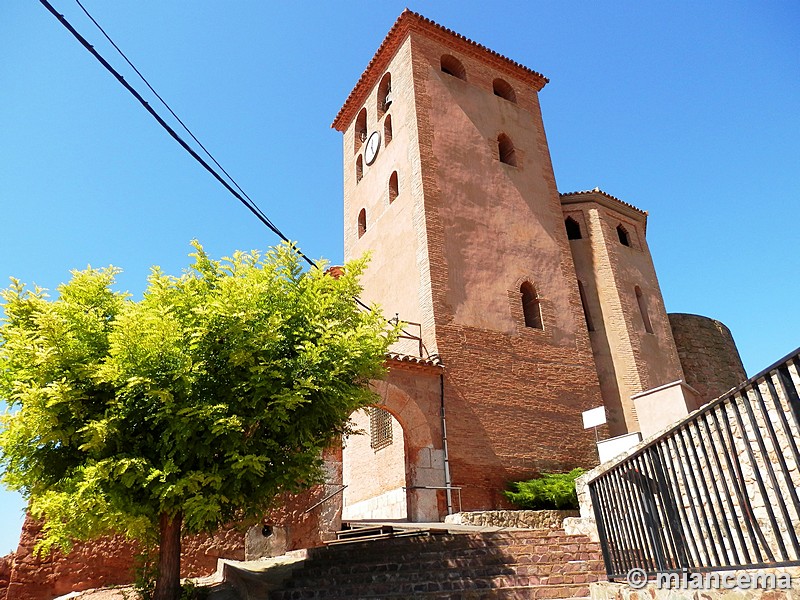
{"type": "Polygon", "coordinates": [[[510,480],[597,462],[581,412],[601,391],[539,107],[546,83],[406,10],[333,122],[345,256],[371,253],[363,299],[420,323],[441,358],[464,510],[503,506],[510,480]]]}

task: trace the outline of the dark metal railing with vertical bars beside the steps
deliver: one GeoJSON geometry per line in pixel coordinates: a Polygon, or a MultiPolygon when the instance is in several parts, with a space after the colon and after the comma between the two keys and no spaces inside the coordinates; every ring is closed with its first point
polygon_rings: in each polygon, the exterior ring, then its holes
{"type": "Polygon", "coordinates": [[[609,579],[800,565],[800,349],[589,482],[609,579]]]}

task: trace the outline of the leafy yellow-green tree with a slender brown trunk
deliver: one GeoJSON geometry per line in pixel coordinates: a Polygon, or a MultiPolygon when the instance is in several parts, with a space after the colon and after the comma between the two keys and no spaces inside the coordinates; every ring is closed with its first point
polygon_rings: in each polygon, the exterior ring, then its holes
{"type": "Polygon", "coordinates": [[[182,533],[321,481],[397,333],[354,302],[363,260],[334,278],[288,245],[222,261],[193,245],[141,301],[112,291],[113,267],[73,272],[55,300],[18,281],[2,295],[3,481],[44,518],[43,551],[158,540],[157,600],[179,594],[182,533]]]}

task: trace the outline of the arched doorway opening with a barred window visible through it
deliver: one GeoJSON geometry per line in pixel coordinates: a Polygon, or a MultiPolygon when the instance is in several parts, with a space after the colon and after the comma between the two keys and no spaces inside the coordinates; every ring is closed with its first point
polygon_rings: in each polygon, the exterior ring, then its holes
{"type": "Polygon", "coordinates": [[[403,428],[388,410],[371,406],[350,417],[356,432],[344,439],[342,519],[408,520],[403,428]]]}

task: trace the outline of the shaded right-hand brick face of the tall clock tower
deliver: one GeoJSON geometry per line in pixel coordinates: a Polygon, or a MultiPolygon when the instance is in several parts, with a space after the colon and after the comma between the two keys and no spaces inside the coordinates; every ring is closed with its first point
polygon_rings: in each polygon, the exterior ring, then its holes
{"type": "Polygon", "coordinates": [[[445,366],[452,482],[465,510],[502,507],[509,480],[596,464],[580,413],[602,403],[597,370],[536,92],[503,74],[517,90],[511,104],[493,94],[490,64],[447,49],[465,83],[440,73],[438,40],[411,41],[428,331],[445,366]],[[517,167],[498,160],[499,131],[517,167]],[[541,330],[524,324],[525,280],[540,296],[541,330]]]}

